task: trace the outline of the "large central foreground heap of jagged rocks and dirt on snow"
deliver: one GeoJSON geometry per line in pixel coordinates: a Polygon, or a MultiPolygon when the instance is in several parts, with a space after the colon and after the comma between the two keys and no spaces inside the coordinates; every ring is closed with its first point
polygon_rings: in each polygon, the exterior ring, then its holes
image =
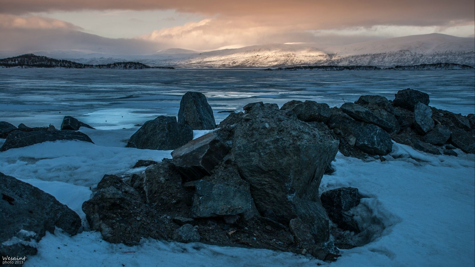
{"type": "Polygon", "coordinates": [[[127,245],[152,237],[337,257],[318,188],[338,141],[275,104],[245,110],[142,175],[104,176],[83,204],[91,229],[127,245]]]}

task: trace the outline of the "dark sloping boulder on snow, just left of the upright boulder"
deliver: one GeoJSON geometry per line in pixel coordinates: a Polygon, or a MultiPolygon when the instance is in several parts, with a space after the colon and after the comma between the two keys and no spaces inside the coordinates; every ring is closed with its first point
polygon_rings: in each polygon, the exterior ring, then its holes
{"type": "Polygon", "coordinates": [[[179,124],[176,117],[158,116],[145,122],[130,137],[127,147],[155,150],[173,150],[193,139],[190,125],[179,124]]]}

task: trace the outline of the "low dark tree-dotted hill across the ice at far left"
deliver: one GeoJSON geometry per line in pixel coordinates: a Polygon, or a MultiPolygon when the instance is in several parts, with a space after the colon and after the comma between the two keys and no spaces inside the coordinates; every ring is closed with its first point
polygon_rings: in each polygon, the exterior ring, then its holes
{"type": "Polygon", "coordinates": [[[110,69],[144,69],[144,68],[173,68],[150,67],[139,62],[114,62],[103,65],[90,65],[70,60],[25,54],[17,57],[0,59],[0,67],[64,67],[64,68],[110,68],[110,69]]]}

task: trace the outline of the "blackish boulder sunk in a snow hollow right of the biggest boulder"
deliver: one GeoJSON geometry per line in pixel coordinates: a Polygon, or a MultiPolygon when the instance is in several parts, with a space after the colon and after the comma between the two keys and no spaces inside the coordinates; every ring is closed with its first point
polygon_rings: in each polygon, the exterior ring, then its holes
{"type": "Polygon", "coordinates": [[[360,204],[360,194],[357,188],[342,187],[324,191],[320,199],[322,206],[328,212],[328,217],[338,225],[338,228],[345,231],[360,231],[358,223],[352,216],[345,213],[360,204]]]}

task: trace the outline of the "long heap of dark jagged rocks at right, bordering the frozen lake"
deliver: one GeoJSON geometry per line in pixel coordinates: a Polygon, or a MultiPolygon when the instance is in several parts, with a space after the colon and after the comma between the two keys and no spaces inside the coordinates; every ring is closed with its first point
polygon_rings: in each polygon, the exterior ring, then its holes
{"type": "MultiPolygon", "coordinates": [[[[290,110],[299,120],[314,122],[319,129],[332,129],[334,138],[340,140],[339,150],[346,156],[384,156],[391,152],[391,139],[433,154],[456,156],[454,146],[475,153],[474,115],[462,116],[428,104],[428,94],[405,89],[392,102],[380,95],[362,95],[340,108],[293,100],[281,110],[290,110]]],[[[234,123],[243,114],[231,115],[221,124],[234,123]]]]}

